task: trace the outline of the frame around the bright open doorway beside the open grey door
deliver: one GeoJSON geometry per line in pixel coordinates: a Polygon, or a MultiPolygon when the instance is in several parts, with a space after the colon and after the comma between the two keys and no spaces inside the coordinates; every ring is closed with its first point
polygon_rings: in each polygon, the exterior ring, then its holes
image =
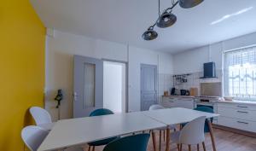
{"type": "MultiPolygon", "coordinates": [[[[129,107],[129,102],[128,102],[128,99],[129,99],[129,96],[128,96],[128,93],[129,93],[129,89],[128,89],[128,67],[129,67],[129,64],[128,64],[128,61],[117,61],[117,60],[111,60],[111,59],[105,59],[105,58],[102,58],[102,61],[104,63],[104,61],[109,61],[109,62],[116,62],[116,63],[124,63],[125,64],[125,113],[128,113],[128,107],[129,107]]],[[[103,68],[104,70],[104,68],[103,68]]],[[[104,73],[104,71],[103,71],[104,73]]],[[[104,79],[103,79],[104,81],[104,79]]]]}

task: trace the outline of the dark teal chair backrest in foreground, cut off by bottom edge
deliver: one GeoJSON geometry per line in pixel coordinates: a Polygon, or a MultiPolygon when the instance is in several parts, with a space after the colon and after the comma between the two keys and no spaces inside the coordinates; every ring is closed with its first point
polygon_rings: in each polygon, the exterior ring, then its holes
{"type": "Polygon", "coordinates": [[[149,134],[125,136],[109,142],[103,151],[147,151],[149,134]]]}

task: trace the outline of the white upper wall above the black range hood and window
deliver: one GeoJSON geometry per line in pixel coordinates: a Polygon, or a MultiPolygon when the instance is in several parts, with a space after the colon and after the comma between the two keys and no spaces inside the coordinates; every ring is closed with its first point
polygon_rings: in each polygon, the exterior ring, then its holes
{"type": "Polygon", "coordinates": [[[178,53],[173,55],[173,71],[175,74],[201,72],[203,63],[207,61],[214,61],[216,68],[220,70],[222,68],[223,50],[236,49],[253,44],[256,44],[256,32],[178,53]]]}

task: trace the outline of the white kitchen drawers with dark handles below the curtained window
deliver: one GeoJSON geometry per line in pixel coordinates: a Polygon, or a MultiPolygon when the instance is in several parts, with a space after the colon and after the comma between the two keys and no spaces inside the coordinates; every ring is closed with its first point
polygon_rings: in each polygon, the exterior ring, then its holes
{"type": "Polygon", "coordinates": [[[256,132],[256,104],[218,102],[218,125],[256,132]]]}

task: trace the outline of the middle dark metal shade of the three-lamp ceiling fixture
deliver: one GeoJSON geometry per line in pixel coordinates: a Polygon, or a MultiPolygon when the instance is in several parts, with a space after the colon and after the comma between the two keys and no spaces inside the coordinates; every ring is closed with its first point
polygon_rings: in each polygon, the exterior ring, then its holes
{"type": "Polygon", "coordinates": [[[156,22],[156,26],[160,28],[166,28],[168,26],[172,26],[177,20],[176,15],[173,15],[172,12],[164,12],[160,15],[159,19],[156,22]]]}

